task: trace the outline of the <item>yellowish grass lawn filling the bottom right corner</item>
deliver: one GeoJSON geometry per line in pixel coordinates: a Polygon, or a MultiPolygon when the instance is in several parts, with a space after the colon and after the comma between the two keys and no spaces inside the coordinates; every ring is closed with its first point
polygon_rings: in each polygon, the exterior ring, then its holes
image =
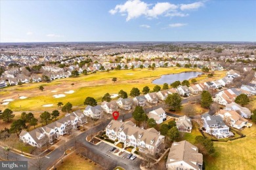
{"type": "Polygon", "coordinates": [[[256,167],[256,124],[245,128],[246,137],[228,142],[214,142],[216,154],[203,158],[205,169],[255,169],[256,167]]]}

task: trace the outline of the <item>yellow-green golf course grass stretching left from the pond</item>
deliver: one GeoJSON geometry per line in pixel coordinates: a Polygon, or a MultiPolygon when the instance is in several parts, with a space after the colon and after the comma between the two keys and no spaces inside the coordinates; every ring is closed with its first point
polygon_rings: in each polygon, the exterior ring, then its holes
{"type": "MultiPolygon", "coordinates": [[[[150,90],[156,84],[152,84],[152,80],[160,78],[161,75],[182,73],[184,71],[200,71],[200,69],[185,69],[177,67],[157,68],[154,71],[148,69],[135,69],[98,72],[87,76],[81,75],[76,78],[60,78],[53,80],[51,83],[39,82],[33,84],[23,84],[22,86],[12,86],[1,91],[3,97],[11,97],[14,101],[9,105],[0,105],[0,109],[9,108],[13,111],[39,111],[39,110],[54,110],[58,109],[57,103],[71,102],[74,106],[83,106],[83,101],[86,97],[94,97],[101,102],[101,98],[105,93],[118,93],[119,90],[124,90],[128,94],[133,87],[139,88],[142,91],[144,86],[149,86],[150,90]],[[112,78],[117,77],[117,82],[112,82],[112,78]],[[75,85],[72,86],[71,84],[75,85]],[[45,90],[41,92],[38,87],[45,86],[45,90]],[[66,94],[66,97],[54,98],[52,90],[57,89],[56,93],[64,93],[68,90],[74,90],[72,94],[66,94]],[[8,91],[8,92],[7,92],[8,91]],[[27,99],[18,99],[17,95],[28,96],[27,99]],[[53,104],[53,107],[42,107],[42,105],[53,104]]],[[[222,73],[223,74],[223,73],[222,73]]],[[[201,77],[200,80],[202,79],[201,77]]],[[[221,78],[221,77],[215,77],[221,78]]],[[[207,79],[203,79],[207,80],[207,79]]]]}

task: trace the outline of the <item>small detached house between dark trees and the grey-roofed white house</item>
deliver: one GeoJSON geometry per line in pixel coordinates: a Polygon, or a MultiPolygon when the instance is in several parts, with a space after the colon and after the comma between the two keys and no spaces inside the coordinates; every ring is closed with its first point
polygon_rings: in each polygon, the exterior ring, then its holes
{"type": "Polygon", "coordinates": [[[192,131],[192,122],[188,116],[181,116],[176,121],[176,126],[179,131],[191,133],[192,131]]]}

